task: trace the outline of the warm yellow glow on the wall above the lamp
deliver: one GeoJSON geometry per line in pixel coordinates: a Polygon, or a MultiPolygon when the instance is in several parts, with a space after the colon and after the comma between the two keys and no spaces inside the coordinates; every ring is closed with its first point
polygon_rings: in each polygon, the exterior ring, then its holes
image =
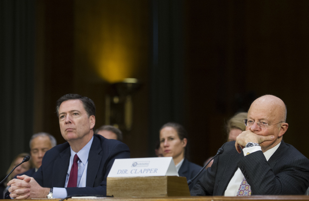
{"type": "Polygon", "coordinates": [[[130,1],[119,5],[101,0],[75,1],[76,53],[109,83],[136,77],[144,59],[140,34],[144,29],[136,21],[139,17],[134,17],[135,9],[128,6],[133,6],[130,1]]]}

